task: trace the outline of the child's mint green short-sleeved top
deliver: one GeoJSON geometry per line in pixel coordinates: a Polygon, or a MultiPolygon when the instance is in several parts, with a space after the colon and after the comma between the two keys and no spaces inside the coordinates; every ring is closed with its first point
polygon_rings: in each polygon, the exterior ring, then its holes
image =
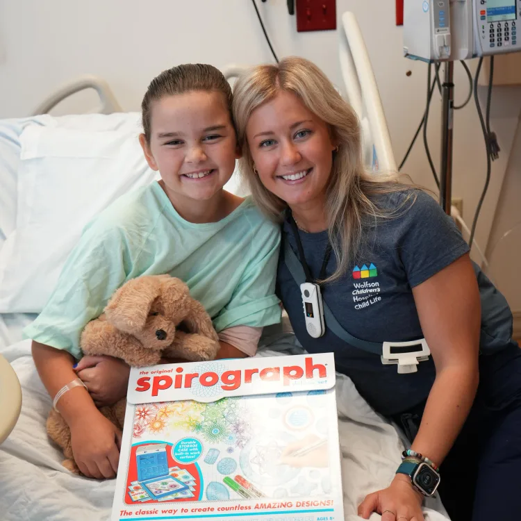
{"type": "Polygon", "coordinates": [[[80,358],[81,331],[115,290],[137,276],[158,274],[185,281],[217,332],[275,324],[281,318],[275,296],[279,246],[279,226],[250,198],[219,222],[194,224],[151,183],[85,226],[49,301],[24,334],[80,358]]]}

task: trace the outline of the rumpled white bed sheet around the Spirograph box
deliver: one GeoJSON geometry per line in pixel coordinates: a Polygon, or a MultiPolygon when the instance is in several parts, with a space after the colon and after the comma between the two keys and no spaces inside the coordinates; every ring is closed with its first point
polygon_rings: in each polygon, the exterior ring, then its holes
{"type": "MultiPolygon", "coordinates": [[[[297,354],[291,334],[264,341],[258,356],[297,354]]],[[[60,451],[51,445],[45,420],[51,407],[31,358],[30,340],[1,347],[22,385],[22,413],[17,426],[0,445],[0,517],[4,521],[104,521],[110,519],[115,480],[76,477],[60,465],[60,451]]],[[[403,444],[392,425],[362,399],[352,381],[338,374],[338,424],[342,449],[345,519],[359,520],[357,505],[365,494],[383,488],[395,472],[403,444]]],[[[439,500],[429,499],[428,521],[447,521],[439,500]]],[[[379,520],[373,514],[370,518],[379,520]]]]}

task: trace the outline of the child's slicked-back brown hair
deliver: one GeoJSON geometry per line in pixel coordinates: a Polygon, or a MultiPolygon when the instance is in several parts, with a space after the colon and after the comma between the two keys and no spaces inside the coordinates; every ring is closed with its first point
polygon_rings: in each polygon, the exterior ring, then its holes
{"type": "Polygon", "coordinates": [[[147,143],[150,143],[150,115],[152,101],[158,101],[164,96],[185,94],[202,90],[206,92],[220,92],[224,98],[226,109],[231,119],[231,87],[222,72],[213,65],[204,63],[185,63],[172,69],[163,71],[154,78],[141,104],[143,132],[147,143]]]}

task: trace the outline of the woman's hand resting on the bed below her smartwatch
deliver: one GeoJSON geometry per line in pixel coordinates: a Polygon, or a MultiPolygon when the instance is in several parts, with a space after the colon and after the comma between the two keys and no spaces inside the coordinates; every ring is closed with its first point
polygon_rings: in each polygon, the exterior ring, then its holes
{"type": "Polygon", "coordinates": [[[381,514],[382,521],[424,521],[423,496],[405,474],[396,474],[388,488],[367,495],[358,506],[358,515],[369,519],[373,512],[381,514]]]}

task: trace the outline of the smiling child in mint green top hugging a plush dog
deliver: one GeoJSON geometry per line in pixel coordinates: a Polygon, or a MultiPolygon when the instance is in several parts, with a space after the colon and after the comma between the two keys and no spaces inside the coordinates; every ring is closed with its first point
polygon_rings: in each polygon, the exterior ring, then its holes
{"type": "MultiPolygon", "coordinates": [[[[85,227],[47,305],[25,331],[51,397],[76,380],[85,324],[137,276],[185,281],[220,333],[220,358],[253,355],[262,327],[280,320],[279,228],[251,200],[223,190],[240,155],[229,83],[210,65],[173,67],[149,85],[142,122],[140,143],[161,181],[121,197],[85,227]]],[[[71,429],[81,472],[110,478],[121,433],[94,402],[124,396],[129,367],[110,357],[88,365],[96,367],[78,375],[92,397],[71,386],[56,407],[71,429]]]]}

